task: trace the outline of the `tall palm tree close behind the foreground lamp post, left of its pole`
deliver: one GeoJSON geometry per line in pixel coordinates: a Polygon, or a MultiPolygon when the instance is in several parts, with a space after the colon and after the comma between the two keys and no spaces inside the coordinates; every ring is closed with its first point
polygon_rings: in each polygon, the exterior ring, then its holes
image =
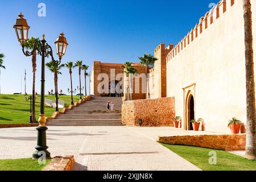
{"type": "MultiPolygon", "coordinates": [[[[31,37],[25,44],[26,49],[32,49],[35,42],[38,42],[39,38],[31,37]]],[[[32,55],[32,71],[33,71],[33,85],[32,85],[32,122],[36,122],[35,115],[35,72],[36,72],[36,51],[32,55]]]]}

